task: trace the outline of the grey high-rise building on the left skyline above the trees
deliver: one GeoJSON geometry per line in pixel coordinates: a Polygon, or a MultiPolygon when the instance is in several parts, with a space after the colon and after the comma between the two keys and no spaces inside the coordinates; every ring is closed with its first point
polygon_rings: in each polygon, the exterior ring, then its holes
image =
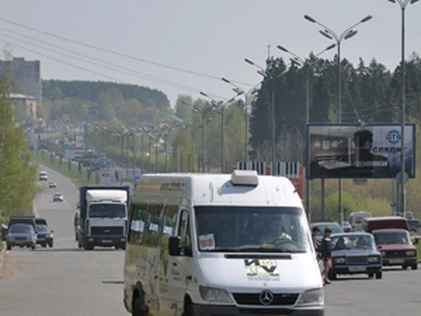
{"type": "MultiPolygon", "coordinates": [[[[23,57],[13,58],[10,61],[12,91],[24,93],[35,97],[38,103],[42,102],[42,83],[39,60],[25,60],[23,57]]],[[[6,62],[0,60],[0,72],[3,73],[6,62]]]]}

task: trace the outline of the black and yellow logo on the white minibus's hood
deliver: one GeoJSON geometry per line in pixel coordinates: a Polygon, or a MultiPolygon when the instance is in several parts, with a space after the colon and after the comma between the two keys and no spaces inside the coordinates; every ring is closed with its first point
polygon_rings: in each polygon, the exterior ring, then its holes
{"type": "Polygon", "coordinates": [[[279,281],[276,260],[244,260],[250,281],[279,281]]]}

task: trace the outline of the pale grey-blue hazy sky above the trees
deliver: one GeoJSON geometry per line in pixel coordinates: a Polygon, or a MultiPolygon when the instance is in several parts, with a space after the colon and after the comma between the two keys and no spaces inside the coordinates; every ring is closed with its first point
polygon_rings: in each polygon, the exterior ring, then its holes
{"type": "MultiPolygon", "coordinates": [[[[372,14],[372,20],[356,28],[357,35],[342,43],[342,57],[354,64],[360,57],[366,63],[376,58],[391,70],[398,65],[400,8],[388,0],[3,1],[0,19],[9,22],[0,20],[0,44],[14,57],[40,60],[43,79],[113,80],[143,85],[163,91],[173,105],[179,94],[199,97],[199,91],[214,98],[231,98],[234,92],[221,77],[241,82],[238,85],[244,90],[258,84],[262,78],[244,58],[264,66],[268,45],[270,55],[284,58],[288,56],[276,48],[278,44],[303,57],[329,46],[331,40],[321,36],[321,28],[306,21],[305,14],[336,33],[372,14]],[[91,59],[85,62],[62,55],[58,52],[75,56],[62,48],[91,59]],[[104,61],[112,63],[114,66],[107,67],[113,69],[100,67],[104,61]]],[[[408,6],[407,57],[414,51],[421,52],[420,16],[421,2],[408,6]]],[[[335,54],[334,49],[323,57],[332,59],[335,54]]]]}

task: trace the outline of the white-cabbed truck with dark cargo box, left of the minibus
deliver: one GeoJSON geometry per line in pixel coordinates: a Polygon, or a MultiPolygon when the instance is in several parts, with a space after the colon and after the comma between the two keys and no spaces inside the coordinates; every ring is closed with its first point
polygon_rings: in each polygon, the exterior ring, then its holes
{"type": "Polygon", "coordinates": [[[95,246],[125,249],[128,187],[86,186],[79,189],[77,242],[79,248],[95,246]]]}

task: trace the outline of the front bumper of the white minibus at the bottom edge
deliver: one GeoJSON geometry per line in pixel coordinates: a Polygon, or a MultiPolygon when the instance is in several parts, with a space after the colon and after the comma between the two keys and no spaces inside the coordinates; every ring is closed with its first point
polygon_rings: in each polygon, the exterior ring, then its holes
{"type": "Polygon", "coordinates": [[[248,308],[237,306],[223,306],[223,305],[201,305],[193,304],[195,315],[200,316],[324,316],[324,307],[303,307],[294,309],[283,308],[248,308]]]}

